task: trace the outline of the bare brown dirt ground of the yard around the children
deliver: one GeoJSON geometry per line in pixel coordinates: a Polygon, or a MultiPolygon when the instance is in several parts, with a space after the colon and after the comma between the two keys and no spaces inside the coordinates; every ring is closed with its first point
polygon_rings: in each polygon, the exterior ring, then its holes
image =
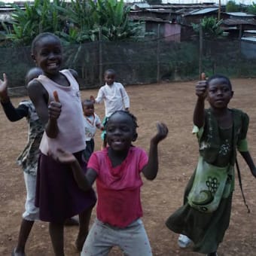
{"type": "MultiPolygon", "coordinates": [[[[236,79],[232,82],[235,94],[230,107],[241,108],[250,116],[248,142],[256,163],[256,79],[236,79]]],[[[135,145],[148,150],[151,136],[156,132],[157,120],[169,126],[169,136],[159,146],[160,169],[157,178],[154,181],[144,179],[142,186],[143,221],[154,255],[197,255],[190,249],[179,248],[178,235],[165,226],[166,218],[181,206],[184,187],[197,163],[197,139],[191,134],[196,101],[194,84],[195,81],[190,81],[126,87],[131,100],[130,111],[138,117],[139,123],[139,138],[135,145]]],[[[91,94],[96,96],[96,93],[97,90],[84,90],[82,98],[91,94]]],[[[24,98],[12,99],[14,105],[24,98]]],[[[96,113],[104,117],[104,105],[96,105],[96,113]]],[[[23,172],[15,163],[26,144],[26,120],[11,123],[1,109],[0,134],[0,255],[10,255],[17,242],[26,196],[23,172]]],[[[96,150],[101,145],[99,135],[99,132],[96,133],[96,150]]],[[[246,211],[236,178],[230,227],[218,250],[221,256],[255,255],[256,251],[256,201],[253,197],[256,180],[241,157],[239,164],[251,213],[246,211]]],[[[92,221],[94,218],[95,209],[92,221]]],[[[65,229],[65,250],[68,256],[78,255],[74,247],[77,233],[78,227],[65,229]]],[[[38,221],[35,224],[26,245],[26,253],[29,256],[53,255],[47,223],[38,221]]],[[[121,253],[114,248],[110,255],[121,253]]]]}

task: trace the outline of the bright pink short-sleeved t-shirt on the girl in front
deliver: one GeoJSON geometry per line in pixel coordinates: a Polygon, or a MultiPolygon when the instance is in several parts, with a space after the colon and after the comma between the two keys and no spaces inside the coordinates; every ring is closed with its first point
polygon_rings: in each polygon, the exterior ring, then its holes
{"type": "Polygon", "coordinates": [[[143,183],[140,172],[147,163],[146,152],[136,147],[131,147],[123,163],[114,168],[108,158],[108,148],[92,154],[87,168],[97,172],[96,214],[99,221],[127,227],[142,217],[140,187],[143,183]]]}

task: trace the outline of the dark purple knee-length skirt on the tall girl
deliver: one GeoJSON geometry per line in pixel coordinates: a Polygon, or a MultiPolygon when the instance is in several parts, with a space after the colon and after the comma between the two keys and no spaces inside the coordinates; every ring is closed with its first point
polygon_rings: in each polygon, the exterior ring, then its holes
{"type": "MultiPolygon", "coordinates": [[[[75,153],[84,173],[87,164],[82,151],[75,153]]],[[[39,207],[41,221],[62,223],[96,204],[92,189],[84,192],[78,187],[68,164],[58,163],[42,153],[38,159],[35,206],[39,207]]]]}

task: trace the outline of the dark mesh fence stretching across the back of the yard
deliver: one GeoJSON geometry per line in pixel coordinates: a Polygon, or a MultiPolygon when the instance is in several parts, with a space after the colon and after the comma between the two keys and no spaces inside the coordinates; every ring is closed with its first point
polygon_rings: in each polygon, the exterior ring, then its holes
{"type": "MultiPolygon", "coordinates": [[[[175,36],[173,36],[175,37],[175,36]]],[[[253,47],[253,46],[252,46],[253,47]]],[[[256,50],[256,44],[254,44],[256,50]]],[[[10,92],[26,93],[26,72],[35,66],[30,47],[0,48],[0,75],[8,75],[10,92]]],[[[230,78],[256,76],[256,57],[246,53],[241,41],[203,40],[182,42],[152,38],[137,42],[91,42],[63,47],[63,69],[78,72],[81,89],[100,87],[105,69],[117,72],[117,81],[126,84],[151,84],[160,81],[188,81],[221,73],[230,78]]]]}

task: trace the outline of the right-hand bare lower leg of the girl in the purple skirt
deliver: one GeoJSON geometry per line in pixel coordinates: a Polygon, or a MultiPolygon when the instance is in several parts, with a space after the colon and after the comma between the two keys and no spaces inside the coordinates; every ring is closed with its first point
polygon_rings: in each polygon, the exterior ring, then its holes
{"type": "Polygon", "coordinates": [[[89,232],[90,216],[92,215],[93,207],[81,212],[79,215],[79,232],[78,238],[75,241],[75,245],[78,251],[82,251],[84,241],[87,238],[89,232]]]}

